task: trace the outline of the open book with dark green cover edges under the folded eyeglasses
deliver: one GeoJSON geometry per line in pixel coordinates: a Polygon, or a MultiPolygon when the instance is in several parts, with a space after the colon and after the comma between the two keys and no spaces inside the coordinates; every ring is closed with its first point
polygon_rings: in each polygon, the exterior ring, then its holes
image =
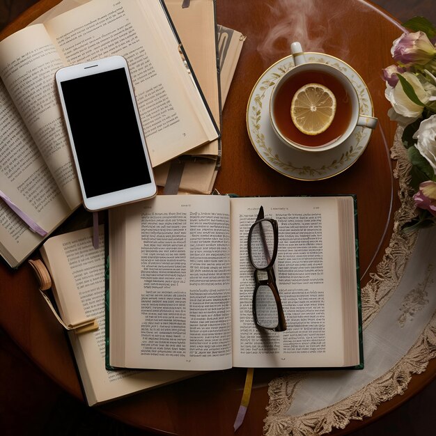
{"type": "Polygon", "coordinates": [[[362,367],[356,234],[353,196],[157,196],[110,210],[109,364],[362,367]],[[261,205],[279,225],[285,332],[252,313],[261,205]]]}

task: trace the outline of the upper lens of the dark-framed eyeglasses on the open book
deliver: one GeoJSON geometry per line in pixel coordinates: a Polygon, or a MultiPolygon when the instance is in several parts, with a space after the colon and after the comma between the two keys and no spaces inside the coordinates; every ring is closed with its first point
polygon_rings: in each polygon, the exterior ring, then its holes
{"type": "Polygon", "coordinates": [[[274,251],[274,228],[270,221],[258,221],[254,224],[250,250],[255,268],[263,269],[270,265],[274,251]]]}

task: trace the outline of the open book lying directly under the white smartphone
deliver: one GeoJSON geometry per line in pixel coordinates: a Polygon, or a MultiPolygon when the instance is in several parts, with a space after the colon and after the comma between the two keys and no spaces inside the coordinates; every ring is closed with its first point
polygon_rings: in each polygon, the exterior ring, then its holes
{"type": "MultiPolygon", "coordinates": [[[[153,166],[219,137],[164,3],[93,0],[0,42],[3,199],[48,233],[81,203],[54,86],[64,65],[127,59],[153,166]]],[[[16,266],[42,241],[3,201],[0,253],[16,266]]]]}

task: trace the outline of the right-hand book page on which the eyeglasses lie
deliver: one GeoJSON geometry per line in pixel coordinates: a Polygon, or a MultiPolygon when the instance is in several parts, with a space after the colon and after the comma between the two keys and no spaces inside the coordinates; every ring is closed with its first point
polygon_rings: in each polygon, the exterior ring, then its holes
{"type": "MultiPolygon", "coordinates": [[[[233,366],[344,366],[348,345],[343,340],[336,198],[231,198],[231,214],[233,366]],[[258,328],[253,318],[254,267],[247,240],[260,205],[265,218],[279,225],[274,271],[288,325],[285,332],[258,328]]],[[[350,292],[357,294],[356,287],[350,292]]]]}

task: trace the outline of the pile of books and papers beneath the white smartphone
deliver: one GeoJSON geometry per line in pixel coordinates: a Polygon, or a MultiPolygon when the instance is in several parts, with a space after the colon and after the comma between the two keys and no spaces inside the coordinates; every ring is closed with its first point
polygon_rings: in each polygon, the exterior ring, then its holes
{"type": "MultiPolygon", "coordinates": [[[[164,89],[178,122],[145,132],[158,185],[208,194],[219,168],[215,1],[195,0],[189,8],[178,0],[79,3],[64,0],[0,42],[0,254],[11,267],[81,205],[54,87],[62,66],[125,56],[144,126],[153,125],[151,113],[161,116],[153,89],[164,89]]],[[[226,91],[243,38],[230,30],[224,34],[231,36],[222,52],[226,91]]]]}

